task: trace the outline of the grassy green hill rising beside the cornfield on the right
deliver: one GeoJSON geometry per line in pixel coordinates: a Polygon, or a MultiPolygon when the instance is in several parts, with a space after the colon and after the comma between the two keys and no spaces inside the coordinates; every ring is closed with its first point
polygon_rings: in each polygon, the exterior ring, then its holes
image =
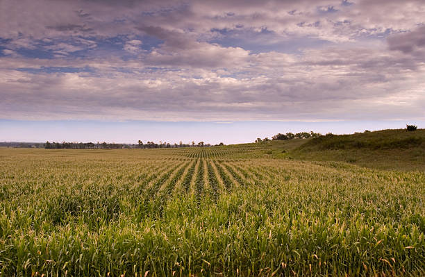
{"type": "Polygon", "coordinates": [[[325,135],[296,143],[296,147],[291,147],[294,143],[283,142],[274,148],[288,151],[300,160],[342,161],[377,169],[425,170],[425,129],[325,135]]]}

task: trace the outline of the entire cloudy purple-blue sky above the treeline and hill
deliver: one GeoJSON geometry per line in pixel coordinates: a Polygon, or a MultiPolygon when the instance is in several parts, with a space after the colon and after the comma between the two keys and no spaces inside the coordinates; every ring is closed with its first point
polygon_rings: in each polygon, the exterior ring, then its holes
{"type": "Polygon", "coordinates": [[[0,141],[425,123],[419,0],[0,0],[0,141]]]}

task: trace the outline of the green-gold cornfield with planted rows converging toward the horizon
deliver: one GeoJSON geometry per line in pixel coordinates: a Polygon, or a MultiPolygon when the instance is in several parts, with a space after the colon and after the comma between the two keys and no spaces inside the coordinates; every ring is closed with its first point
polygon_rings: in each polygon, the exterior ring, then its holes
{"type": "Polygon", "coordinates": [[[0,149],[0,275],[425,275],[424,171],[276,149],[0,149]]]}

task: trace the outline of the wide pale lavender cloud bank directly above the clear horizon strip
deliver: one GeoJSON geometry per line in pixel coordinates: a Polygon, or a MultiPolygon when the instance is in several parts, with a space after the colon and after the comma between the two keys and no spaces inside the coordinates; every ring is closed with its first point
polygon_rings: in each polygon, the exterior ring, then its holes
{"type": "Polygon", "coordinates": [[[122,64],[96,62],[88,63],[94,74],[3,69],[0,85],[5,101],[0,117],[217,121],[423,117],[419,103],[424,101],[425,83],[418,77],[425,69],[412,74],[403,63],[391,67],[400,57],[390,60],[381,51],[316,50],[303,60],[261,53],[242,63],[242,72],[192,67],[140,72],[138,64],[129,72],[117,72],[108,68],[122,64]],[[371,56],[376,58],[370,60],[371,56]],[[324,57],[330,62],[323,62],[324,57]]]}

